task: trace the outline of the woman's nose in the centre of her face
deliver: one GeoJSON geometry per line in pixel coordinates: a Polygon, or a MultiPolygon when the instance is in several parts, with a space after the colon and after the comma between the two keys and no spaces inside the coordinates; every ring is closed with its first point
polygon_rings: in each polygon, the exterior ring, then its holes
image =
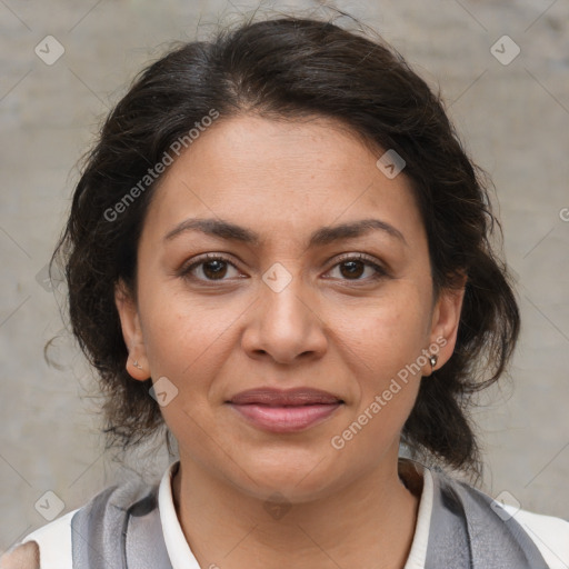
{"type": "Polygon", "coordinates": [[[292,278],[280,291],[261,283],[260,298],[253,307],[241,339],[251,358],[291,365],[326,353],[326,322],[303,290],[300,277],[292,278]]]}

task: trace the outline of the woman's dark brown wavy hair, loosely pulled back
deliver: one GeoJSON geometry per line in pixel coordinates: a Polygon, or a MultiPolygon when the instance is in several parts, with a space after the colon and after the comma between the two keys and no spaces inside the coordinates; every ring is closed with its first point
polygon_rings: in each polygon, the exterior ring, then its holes
{"type": "Polygon", "coordinates": [[[402,440],[416,456],[478,472],[472,395],[505,372],[520,326],[506,266],[492,251],[500,226],[491,182],[468,157],[440,94],[377,33],[293,16],[219,28],[211,41],[169,51],[138,76],[87,156],[51,262],[64,272],[72,332],[100,380],[108,448],[126,450],[163,428],[151,380],[126,371],[114,305],[119,279],[136,297],[137,243],[156,181],[117,220],[106,211],[211,109],[219,121],[336,119],[405,159],[436,293],[456,288],[461,274],[468,281],[455,352],[421,380],[402,440]]]}

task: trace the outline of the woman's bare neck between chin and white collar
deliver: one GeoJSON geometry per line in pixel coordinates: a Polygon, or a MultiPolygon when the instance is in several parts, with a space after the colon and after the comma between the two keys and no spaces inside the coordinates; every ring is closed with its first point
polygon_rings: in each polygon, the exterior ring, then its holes
{"type": "Polygon", "coordinates": [[[400,469],[408,489],[398,476],[397,455],[392,463],[312,501],[269,503],[211,477],[181,455],[173,499],[201,567],[402,569],[422,478],[408,467],[400,469]]]}

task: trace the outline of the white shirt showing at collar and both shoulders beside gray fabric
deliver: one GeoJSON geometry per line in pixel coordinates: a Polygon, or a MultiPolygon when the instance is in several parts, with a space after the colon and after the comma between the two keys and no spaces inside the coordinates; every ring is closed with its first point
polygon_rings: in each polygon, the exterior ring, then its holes
{"type": "MultiPolygon", "coordinates": [[[[170,465],[160,481],[158,508],[166,548],[173,569],[200,569],[183,535],[172,497],[172,473],[177,462],[170,465]]],[[[423,569],[427,558],[432,511],[433,481],[428,468],[422,468],[423,488],[419,502],[417,526],[405,569],[423,569]]],[[[569,522],[560,518],[505,509],[528,532],[550,569],[569,569],[569,522]]],[[[77,510],[30,533],[22,542],[37,541],[40,547],[41,569],[72,569],[71,518],[77,510]]]]}

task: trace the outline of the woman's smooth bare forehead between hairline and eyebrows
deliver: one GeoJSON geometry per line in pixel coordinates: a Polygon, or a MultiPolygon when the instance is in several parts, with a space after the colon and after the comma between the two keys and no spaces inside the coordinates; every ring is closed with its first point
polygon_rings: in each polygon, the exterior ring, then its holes
{"type": "Polygon", "coordinates": [[[163,174],[144,231],[219,217],[260,233],[300,234],[371,213],[402,231],[418,223],[420,231],[409,181],[382,173],[376,166],[382,153],[326,118],[218,119],[163,174]]]}

